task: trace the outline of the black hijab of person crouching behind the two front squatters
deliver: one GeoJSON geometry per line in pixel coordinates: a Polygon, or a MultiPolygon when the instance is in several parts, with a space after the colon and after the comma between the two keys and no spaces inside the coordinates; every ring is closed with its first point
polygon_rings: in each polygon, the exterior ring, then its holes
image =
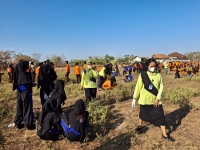
{"type": "Polygon", "coordinates": [[[64,81],[57,80],[52,90],[52,98],[53,99],[61,98],[62,102],[64,102],[67,99],[64,88],[65,88],[64,81]]]}

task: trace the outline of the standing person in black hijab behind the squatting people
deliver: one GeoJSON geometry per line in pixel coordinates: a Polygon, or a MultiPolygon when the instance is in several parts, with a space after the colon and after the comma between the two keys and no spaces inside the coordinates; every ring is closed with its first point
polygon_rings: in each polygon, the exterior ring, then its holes
{"type": "Polygon", "coordinates": [[[49,94],[54,87],[53,81],[56,79],[57,75],[51,62],[47,61],[46,64],[40,66],[38,88],[40,87],[40,99],[42,105],[44,105],[45,100],[49,97],[49,94]]]}

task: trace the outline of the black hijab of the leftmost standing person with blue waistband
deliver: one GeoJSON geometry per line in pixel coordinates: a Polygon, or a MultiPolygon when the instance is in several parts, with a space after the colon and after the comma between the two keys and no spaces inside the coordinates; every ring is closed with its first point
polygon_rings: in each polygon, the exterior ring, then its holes
{"type": "Polygon", "coordinates": [[[20,61],[14,70],[13,73],[13,90],[17,88],[18,85],[27,85],[32,84],[31,77],[26,72],[28,69],[29,62],[28,61],[20,61]]]}

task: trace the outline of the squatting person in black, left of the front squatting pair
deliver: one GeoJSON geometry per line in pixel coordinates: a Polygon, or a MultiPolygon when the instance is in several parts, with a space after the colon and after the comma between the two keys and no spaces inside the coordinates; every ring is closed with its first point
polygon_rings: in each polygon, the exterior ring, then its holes
{"type": "Polygon", "coordinates": [[[59,102],[49,98],[42,107],[37,123],[37,135],[43,140],[58,140],[62,134],[60,114],[57,111],[59,102]]]}

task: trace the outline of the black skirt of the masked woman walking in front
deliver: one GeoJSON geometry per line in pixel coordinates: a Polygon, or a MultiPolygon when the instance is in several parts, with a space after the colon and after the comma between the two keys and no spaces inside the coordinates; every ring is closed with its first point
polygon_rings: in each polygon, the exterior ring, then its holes
{"type": "Polygon", "coordinates": [[[139,117],[141,120],[155,126],[166,126],[162,105],[159,105],[159,107],[154,107],[154,105],[140,105],[139,117]]]}

